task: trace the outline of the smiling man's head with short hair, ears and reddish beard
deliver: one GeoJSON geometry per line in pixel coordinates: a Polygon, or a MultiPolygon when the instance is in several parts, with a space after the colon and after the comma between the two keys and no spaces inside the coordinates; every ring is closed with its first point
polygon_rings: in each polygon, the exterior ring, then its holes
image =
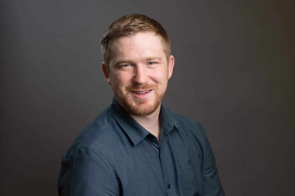
{"type": "Polygon", "coordinates": [[[104,33],[101,48],[102,69],[118,103],[136,116],[159,108],[174,66],[163,27],[147,16],[123,16],[104,33]]]}

